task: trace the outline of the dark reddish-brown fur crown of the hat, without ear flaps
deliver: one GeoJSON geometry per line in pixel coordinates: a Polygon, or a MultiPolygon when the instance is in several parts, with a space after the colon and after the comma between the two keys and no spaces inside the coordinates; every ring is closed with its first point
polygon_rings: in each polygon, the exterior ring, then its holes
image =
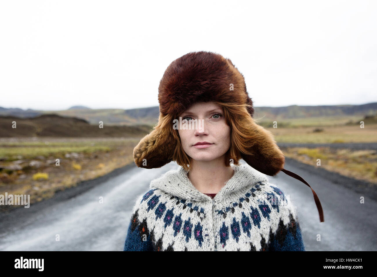
{"type": "MultiPolygon", "coordinates": [[[[173,61],[158,87],[162,115],[182,112],[195,102],[253,105],[244,76],[230,59],[211,52],[190,52],[173,61]],[[230,90],[233,84],[233,90],[230,90]]],[[[248,112],[253,116],[254,109],[248,112]]]]}

